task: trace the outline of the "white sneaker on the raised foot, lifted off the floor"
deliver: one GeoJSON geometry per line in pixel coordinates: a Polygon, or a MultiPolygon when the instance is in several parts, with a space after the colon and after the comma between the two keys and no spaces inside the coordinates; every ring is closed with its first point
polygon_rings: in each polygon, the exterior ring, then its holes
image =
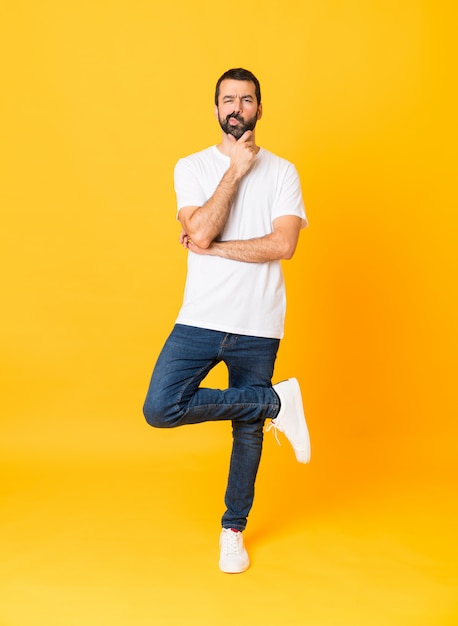
{"type": "Polygon", "coordinates": [[[289,378],[277,383],[273,388],[280,398],[280,412],[268,424],[266,431],[273,427],[277,441],[277,431],[284,433],[293,446],[299,463],[308,463],[310,461],[310,436],[305,421],[299,383],[295,378],[289,378]]]}

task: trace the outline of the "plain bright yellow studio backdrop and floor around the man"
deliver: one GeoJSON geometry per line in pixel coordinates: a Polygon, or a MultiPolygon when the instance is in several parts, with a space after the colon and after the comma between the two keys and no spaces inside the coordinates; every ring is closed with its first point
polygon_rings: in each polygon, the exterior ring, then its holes
{"type": "Polygon", "coordinates": [[[2,3],[2,626],[456,624],[455,18],[2,3]],[[155,431],[141,407],[185,276],[173,166],[218,141],[236,66],[303,184],[276,379],[301,383],[312,463],[266,439],[252,568],[228,577],[229,425],[155,431]]]}

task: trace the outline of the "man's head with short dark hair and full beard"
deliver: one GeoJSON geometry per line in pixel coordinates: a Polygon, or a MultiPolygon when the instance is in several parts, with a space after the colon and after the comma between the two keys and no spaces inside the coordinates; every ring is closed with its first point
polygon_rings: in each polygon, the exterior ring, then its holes
{"type": "Polygon", "coordinates": [[[215,89],[215,116],[222,130],[240,139],[247,130],[254,130],[261,115],[261,87],[256,76],[243,68],[225,72],[215,89]]]}

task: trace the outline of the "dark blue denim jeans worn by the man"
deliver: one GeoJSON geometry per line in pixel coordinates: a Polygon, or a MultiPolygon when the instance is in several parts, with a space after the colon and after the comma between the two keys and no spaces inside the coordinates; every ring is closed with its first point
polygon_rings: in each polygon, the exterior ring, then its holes
{"type": "Polygon", "coordinates": [[[253,504],[264,420],[276,417],[280,409],[271,383],[279,343],[278,339],[176,324],[151,377],[143,407],[151,426],[173,428],[232,421],[224,528],[244,530],[253,504]],[[200,387],[221,361],[229,372],[229,388],[200,387]]]}

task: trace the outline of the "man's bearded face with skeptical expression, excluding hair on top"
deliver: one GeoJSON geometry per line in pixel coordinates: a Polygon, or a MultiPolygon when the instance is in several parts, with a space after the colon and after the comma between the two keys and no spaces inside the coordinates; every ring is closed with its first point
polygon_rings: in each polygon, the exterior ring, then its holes
{"type": "Polygon", "coordinates": [[[254,83],[245,80],[223,80],[215,115],[223,131],[236,139],[240,139],[245,131],[254,130],[256,122],[262,115],[254,83]]]}

